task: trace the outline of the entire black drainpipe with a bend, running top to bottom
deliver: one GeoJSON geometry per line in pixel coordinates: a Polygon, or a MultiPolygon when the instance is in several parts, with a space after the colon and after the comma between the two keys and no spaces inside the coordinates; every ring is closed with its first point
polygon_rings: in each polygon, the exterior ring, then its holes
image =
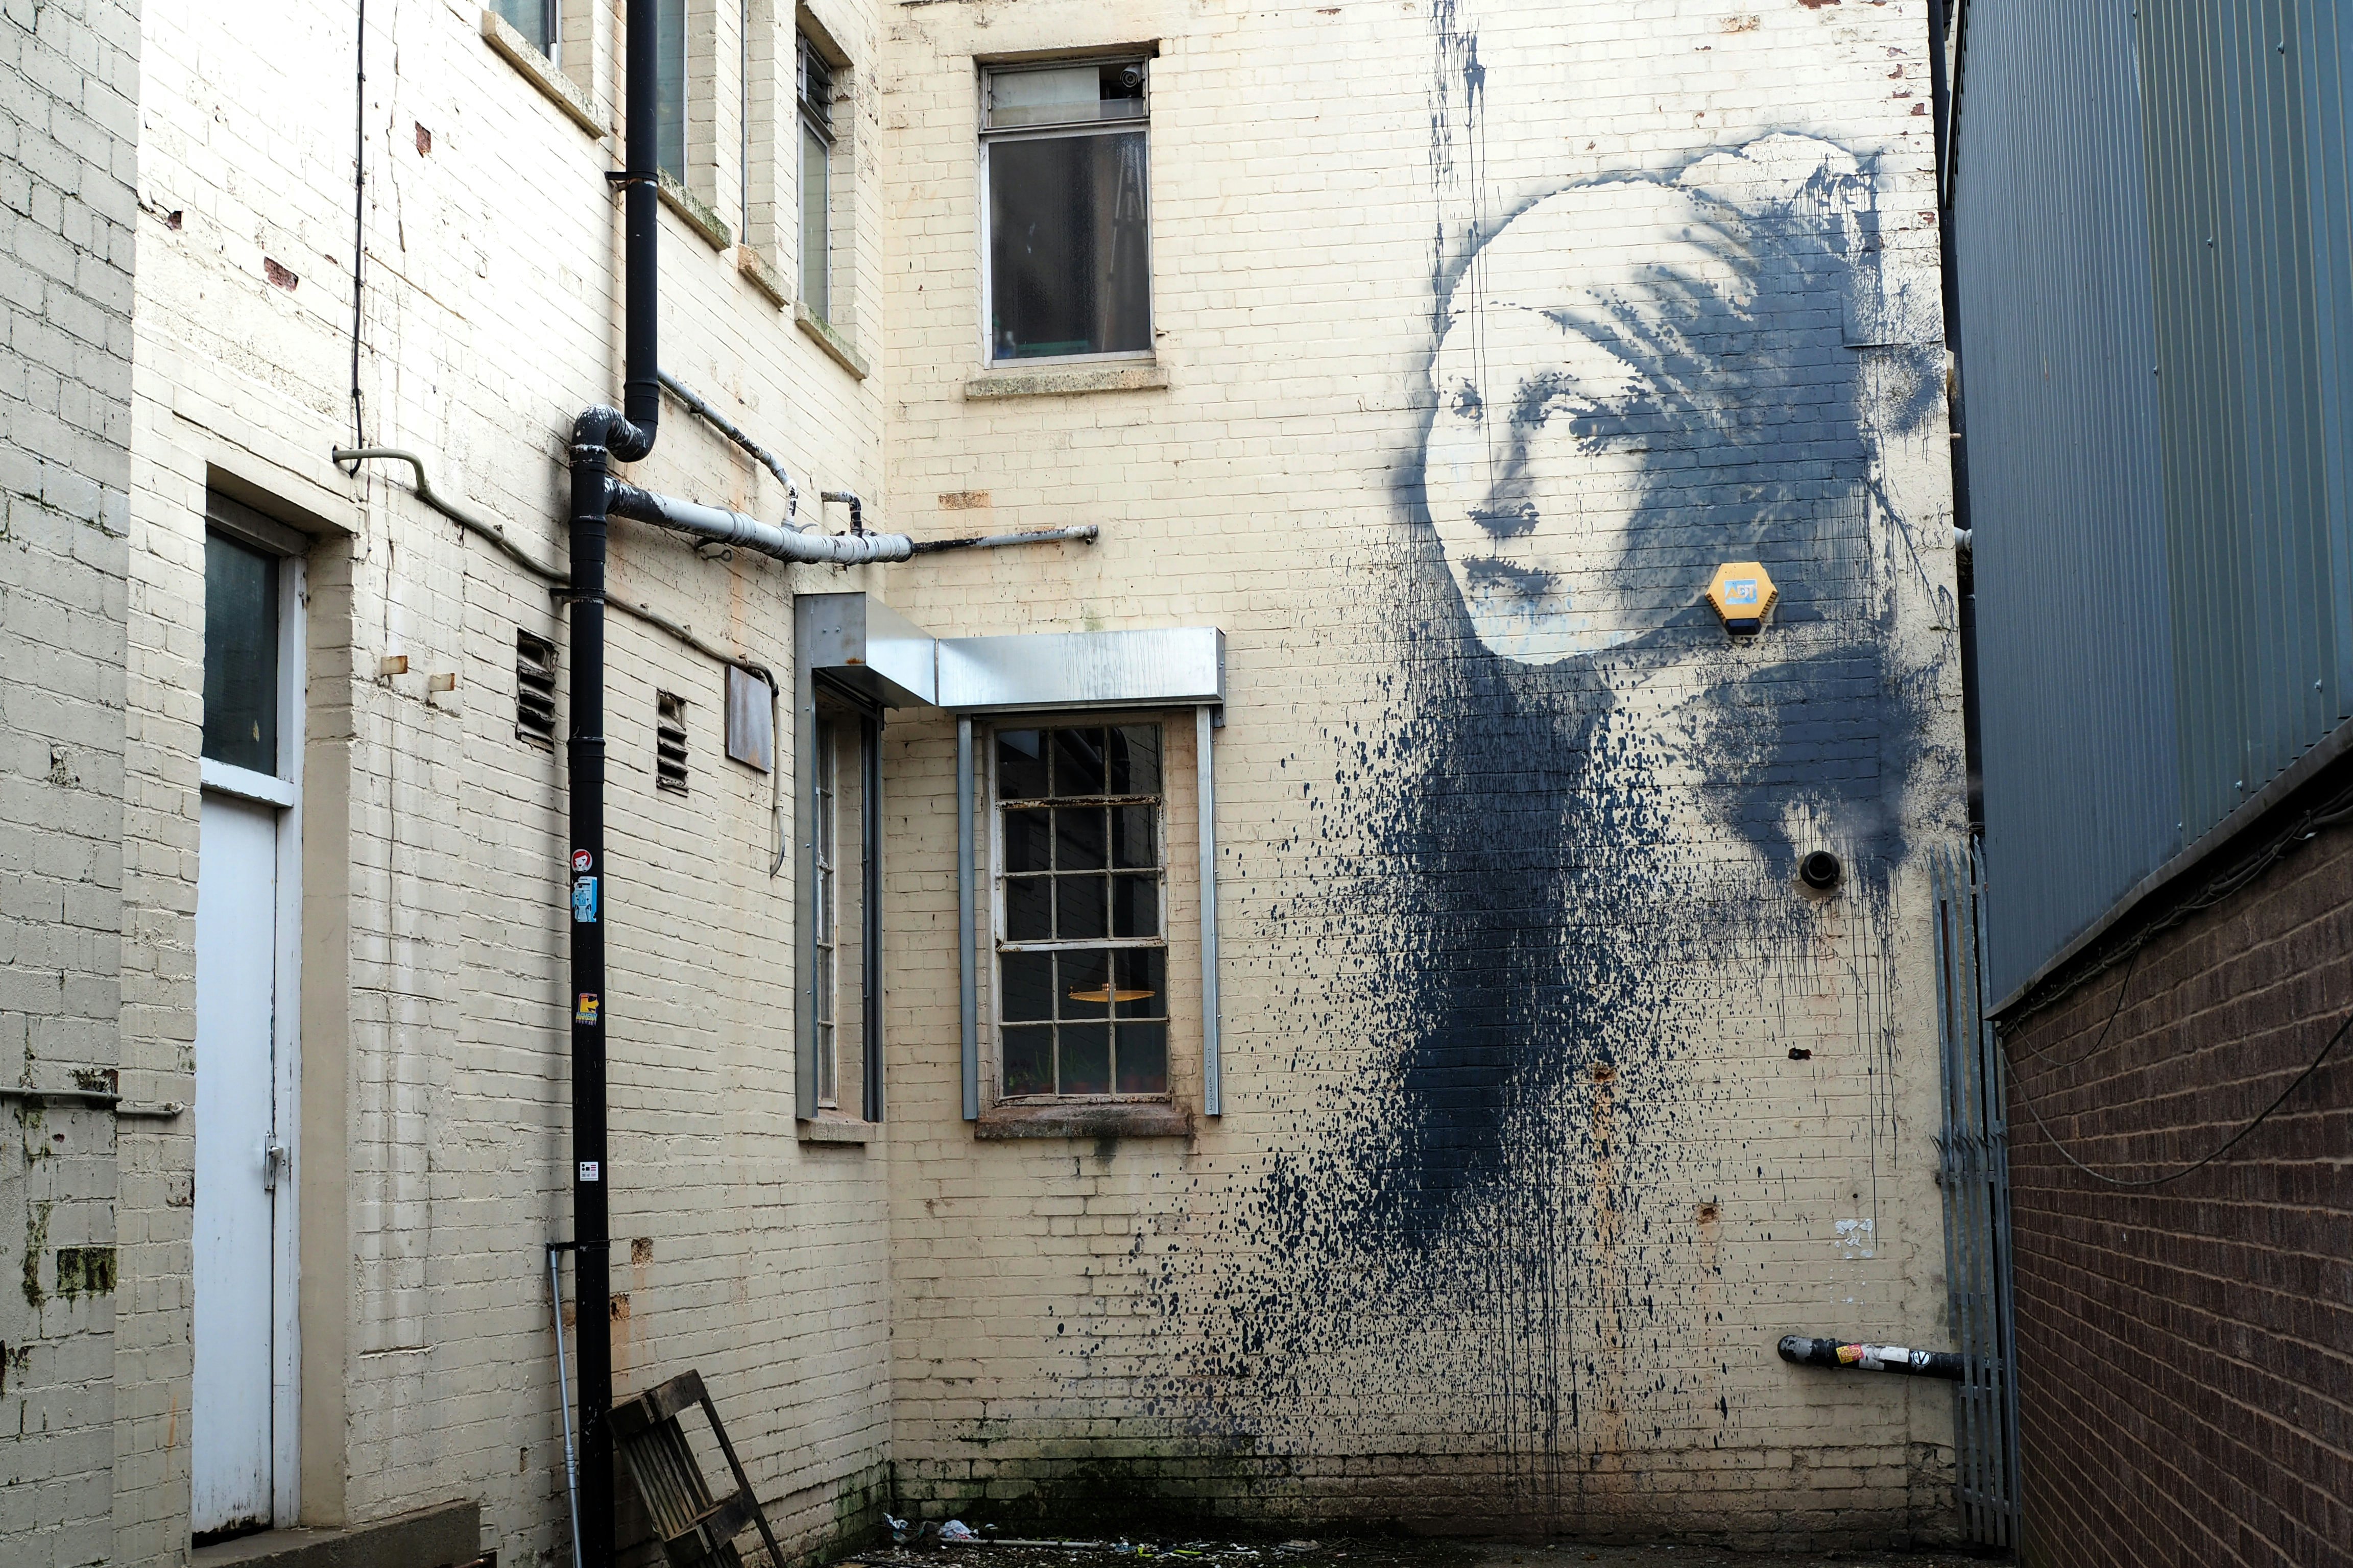
{"type": "Polygon", "coordinates": [[[579,1566],[612,1568],[612,1218],[605,1187],[605,919],[612,879],[605,867],[605,503],[609,461],[635,463],[654,449],[661,416],[661,357],[654,322],[656,148],[654,49],[656,7],[628,7],[628,148],[626,169],[605,179],[624,188],[626,226],[626,367],[621,411],[588,409],[572,423],[572,1239],[579,1302],[579,1566]]]}

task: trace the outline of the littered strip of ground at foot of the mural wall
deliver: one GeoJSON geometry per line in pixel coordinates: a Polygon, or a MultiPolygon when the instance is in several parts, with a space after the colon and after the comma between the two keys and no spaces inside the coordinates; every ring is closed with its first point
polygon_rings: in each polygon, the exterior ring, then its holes
{"type": "Polygon", "coordinates": [[[1482,1542],[1414,1535],[1329,1540],[991,1540],[969,1547],[882,1547],[835,1568],[1988,1568],[2007,1559],[1960,1549],[1734,1552],[1729,1547],[1600,1547],[1567,1540],[1482,1542]]]}

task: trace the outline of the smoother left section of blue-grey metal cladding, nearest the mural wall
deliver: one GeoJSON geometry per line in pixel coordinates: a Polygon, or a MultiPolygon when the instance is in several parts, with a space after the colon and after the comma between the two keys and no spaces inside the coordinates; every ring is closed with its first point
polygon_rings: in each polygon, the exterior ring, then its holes
{"type": "Polygon", "coordinates": [[[2179,849],[2181,813],[2129,5],[1981,0],[1967,26],[1953,247],[2002,994],[2179,849]]]}

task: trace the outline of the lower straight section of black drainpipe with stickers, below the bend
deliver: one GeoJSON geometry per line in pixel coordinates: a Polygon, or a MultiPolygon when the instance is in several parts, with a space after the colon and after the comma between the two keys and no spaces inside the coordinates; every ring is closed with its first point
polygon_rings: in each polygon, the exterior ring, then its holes
{"type": "Polygon", "coordinates": [[[572,1253],[579,1300],[579,1568],[612,1563],[612,1218],[605,1182],[605,447],[572,449],[572,1253]]]}

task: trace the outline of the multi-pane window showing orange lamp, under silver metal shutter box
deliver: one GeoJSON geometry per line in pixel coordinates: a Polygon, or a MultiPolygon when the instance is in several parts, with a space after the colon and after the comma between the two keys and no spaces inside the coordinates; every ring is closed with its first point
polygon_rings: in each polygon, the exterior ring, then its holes
{"type": "Polygon", "coordinates": [[[1169,1088],[1160,726],[1002,729],[1002,1098],[1169,1088]]]}

